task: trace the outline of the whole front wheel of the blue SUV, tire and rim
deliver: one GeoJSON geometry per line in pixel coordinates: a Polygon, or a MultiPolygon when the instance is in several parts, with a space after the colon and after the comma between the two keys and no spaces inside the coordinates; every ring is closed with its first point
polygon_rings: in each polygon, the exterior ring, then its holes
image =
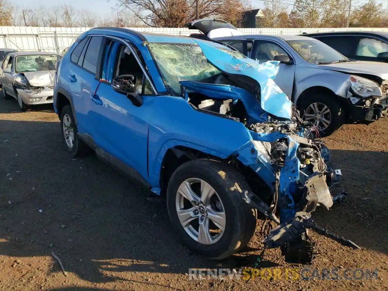
{"type": "Polygon", "coordinates": [[[255,212],[241,193],[241,173],[223,161],[196,159],[179,166],[167,188],[171,224],[182,242],[214,260],[238,252],[256,227],[255,212]]]}

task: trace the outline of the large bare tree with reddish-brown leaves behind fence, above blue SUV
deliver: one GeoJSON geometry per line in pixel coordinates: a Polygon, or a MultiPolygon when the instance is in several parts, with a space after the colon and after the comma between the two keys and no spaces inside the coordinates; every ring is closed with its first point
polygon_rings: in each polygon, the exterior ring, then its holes
{"type": "MultiPolygon", "coordinates": [[[[192,0],[116,0],[118,7],[131,10],[135,16],[152,27],[182,27],[196,17],[192,0]]],[[[210,16],[242,16],[240,0],[199,0],[199,18],[210,16]],[[235,13],[236,12],[236,13],[235,13]]]]}

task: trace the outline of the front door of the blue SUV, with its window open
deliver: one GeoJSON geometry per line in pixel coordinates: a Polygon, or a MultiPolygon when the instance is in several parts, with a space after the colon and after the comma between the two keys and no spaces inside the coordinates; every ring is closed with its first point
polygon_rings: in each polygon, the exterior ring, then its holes
{"type": "Polygon", "coordinates": [[[96,145],[148,180],[149,107],[158,97],[155,97],[135,58],[134,48],[116,40],[108,39],[106,43],[101,66],[105,81],[100,82],[95,96],[95,99],[101,100],[101,104],[92,107],[93,132],[96,145]],[[117,92],[111,86],[113,78],[128,74],[137,78],[136,92],[143,100],[141,106],[133,104],[126,94],[117,92]]]}

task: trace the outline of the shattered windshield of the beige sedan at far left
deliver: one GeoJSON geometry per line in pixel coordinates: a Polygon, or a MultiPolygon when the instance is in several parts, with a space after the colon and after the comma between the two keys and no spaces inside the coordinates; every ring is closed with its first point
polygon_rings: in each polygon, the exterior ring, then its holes
{"type": "Polygon", "coordinates": [[[15,60],[15,72],[55,70],[59,55],[19,55],[15,60]]]}

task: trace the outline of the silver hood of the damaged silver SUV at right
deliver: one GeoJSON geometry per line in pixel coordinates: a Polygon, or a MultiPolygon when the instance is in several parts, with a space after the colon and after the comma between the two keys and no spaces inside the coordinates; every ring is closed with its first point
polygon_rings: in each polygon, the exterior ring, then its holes
{"type": "Polygon", "coordinates": [[[321,68],[340,71],[351,74],[369,74],[388,80],[388,64],[385,62],[340,62],[334,64],[319,65],[321,68]]]}

